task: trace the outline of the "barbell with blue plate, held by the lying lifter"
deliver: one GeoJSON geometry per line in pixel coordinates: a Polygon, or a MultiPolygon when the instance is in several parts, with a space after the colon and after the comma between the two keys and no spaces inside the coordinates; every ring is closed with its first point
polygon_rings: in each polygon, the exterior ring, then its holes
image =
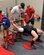
{"type": "MultiPolygon", "coordinates": [[[[22,20],[13,21],[13,23],[21,22],[22,20]]],[[[4,29],[8,29],[10,27],[10,20],[8,17],[3,17],[0,25],[3,25],[4,29]]]]}

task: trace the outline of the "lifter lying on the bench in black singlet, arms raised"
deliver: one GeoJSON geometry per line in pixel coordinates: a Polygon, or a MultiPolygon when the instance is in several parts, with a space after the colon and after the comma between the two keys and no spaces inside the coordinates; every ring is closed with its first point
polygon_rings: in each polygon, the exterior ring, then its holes
{"type": "Polygon", "coordinates": [[[35,41],[39,41],[39,42],[41,41],[40,36],[43,34],[43,31],[27,25],[23,18],[22,18],[22,22],[24,24],[22,27],[17,26],[13,21],[11,21],[11,24],[18,30],[18,32],[24,32],[32,35],[33,39],[29,44],[30,46],[29,49],[32,49],[32,46],[35,44],[35,41]]]}

